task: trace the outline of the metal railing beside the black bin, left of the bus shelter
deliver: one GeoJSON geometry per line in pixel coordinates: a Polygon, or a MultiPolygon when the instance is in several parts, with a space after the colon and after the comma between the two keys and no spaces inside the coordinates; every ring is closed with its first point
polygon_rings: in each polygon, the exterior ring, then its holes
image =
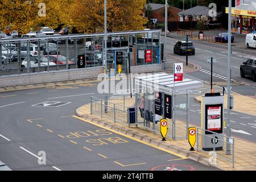
{"type": "Polygon", "coordinates": [[[133,107],[134,104],[135,98],[125,96],[113,99],[90,97],[90,114],[96,114],[101,118],[107,118],[130,127],[131,124],[135,124],[135,122],[130,121],[135,121],[137,111],[128,111],[128,109],[133,107]]]}

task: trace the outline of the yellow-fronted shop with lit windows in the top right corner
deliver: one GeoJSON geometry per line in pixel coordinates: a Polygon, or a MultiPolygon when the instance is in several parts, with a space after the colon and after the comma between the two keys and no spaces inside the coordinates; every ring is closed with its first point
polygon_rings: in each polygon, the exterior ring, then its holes
{"type": "MultiPolygon", "coordinates": [[[[256,31],[256,10],[247,10],[247,6],[232,8],[232,31],[238,34],[248,34],[256,31]],[[242,9],[243,8],[243,9],[242,9]]],[[[228,8],[226,8],[228,14],[228,8]]]]}

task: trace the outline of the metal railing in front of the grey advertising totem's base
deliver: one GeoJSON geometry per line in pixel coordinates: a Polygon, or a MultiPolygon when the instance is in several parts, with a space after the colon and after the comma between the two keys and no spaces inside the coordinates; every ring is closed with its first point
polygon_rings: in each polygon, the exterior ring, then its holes
{"type": "Polygon", "coordinates": [[[196,141],[197,151],[213,151],[212,155],[232,162],[234,168],[234,138],[197,127],[196,141]]]}

